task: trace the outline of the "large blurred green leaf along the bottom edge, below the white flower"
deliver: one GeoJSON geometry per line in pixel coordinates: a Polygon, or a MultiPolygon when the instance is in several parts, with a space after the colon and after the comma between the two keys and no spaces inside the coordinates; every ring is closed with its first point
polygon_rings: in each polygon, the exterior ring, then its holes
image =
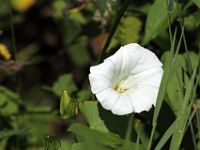
{"type": "MultiPolygon", "coordinates": [[[[72,150],[93,150],[94,147],[95,150],[133,150],[138,145],[122,140],[115,134],[90,129],[82,124],[72,124],[68,130],[75,133],[78,141],[81,142],[73,144],[72,150]]],[[[139,149],[143,150],[141,145],[139,145],[139,149]]]]}

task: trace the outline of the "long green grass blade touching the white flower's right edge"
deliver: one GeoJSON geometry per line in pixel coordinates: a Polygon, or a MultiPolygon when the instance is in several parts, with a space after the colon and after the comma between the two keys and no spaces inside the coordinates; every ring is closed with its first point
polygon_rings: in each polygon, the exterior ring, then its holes
{"type": "Polygon", "coordinates": [[[149,140],[149,143],[148,143],[147,150],[151,149],[151,144],[152,144],[154,132],[155,132],[155,128],[156,128],[156,125],[157,125],[158,115],[159,115],[160,108],[161,108],[163,98],[164,98],[164,95],[165,95],[165,91],[166,91],[166,88],[167,88],[167,83],[169,81],[169,77],[170,77],[170,74],[171,74],[172,65],[173,65],[172,62],[173,62],[173,58],[174,58],[176,34],[177,34],[177,30],[175,30],[171,49],[170,49],[167,61],[165,63],[165,66],[164,66],[164,74],[163,74],[160,89],[159,89],[159,92],[158,92],[158,98],[157,98],[156,107],[155,107],[154,115],[153,115],[153,122],[152,122],[153,128],[152,128],[152,131],[151,131],[151,136],[150,136],[150,140],[149,140]]]}

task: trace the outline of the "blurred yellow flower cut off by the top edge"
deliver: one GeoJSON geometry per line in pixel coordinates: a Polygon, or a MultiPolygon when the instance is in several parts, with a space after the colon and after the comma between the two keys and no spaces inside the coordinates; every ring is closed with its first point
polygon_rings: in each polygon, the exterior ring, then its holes
{"type": "Polygon", "coordinates": [[[11,0],[13,8],[19,12],[27,11],[35,2],[36,0],[11,0]]]}

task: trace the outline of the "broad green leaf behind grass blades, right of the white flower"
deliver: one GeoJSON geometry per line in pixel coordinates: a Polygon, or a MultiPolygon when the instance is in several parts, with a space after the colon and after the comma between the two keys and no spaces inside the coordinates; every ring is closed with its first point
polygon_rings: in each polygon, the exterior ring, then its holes
{"type": "MultiPolygon", "coordinates": [[[[162,61],[165,64],[166,58],[169,52],[165,52],[162,56],[162,61]]],[[[187,61],[186,61],[186,53],[177,55],[176,61],[174,62],[173,71],[170,76],[170,80],[168,82],[167,86],[167,98],[166,102],[170,106],[170,108],[173,110],[175,115],[178,115],[178,113],[181,110],[180,104],[183,103],[183,86],[187,86],[189,80],[186,72],[189,72],[189,69],[194,69],[195,63],[197,62],[198,55],[194,52],[189,53],[189,57],[191,60],[192,68],[188,68],[187,61]],[[184,70],[184,72],[183,72],[184,70]],[[185,81],[183,81],[182,76],[184,75],[185,81]],[[187,79],[187,80],[186,80],[187,79]],[[176,100],[175,100],[176,99],[176,100]]]]}

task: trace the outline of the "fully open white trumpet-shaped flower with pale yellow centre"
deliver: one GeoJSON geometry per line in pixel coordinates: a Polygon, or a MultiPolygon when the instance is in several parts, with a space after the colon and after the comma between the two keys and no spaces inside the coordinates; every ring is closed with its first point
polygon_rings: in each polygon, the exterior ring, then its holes
{"type": "Polygon", "coordinates": [[[155,106],[163,74],[162,63],[136,43],[121,47],[102,64],[90,68],[92,92],[113,114],[148,111],[155,106]]]}

